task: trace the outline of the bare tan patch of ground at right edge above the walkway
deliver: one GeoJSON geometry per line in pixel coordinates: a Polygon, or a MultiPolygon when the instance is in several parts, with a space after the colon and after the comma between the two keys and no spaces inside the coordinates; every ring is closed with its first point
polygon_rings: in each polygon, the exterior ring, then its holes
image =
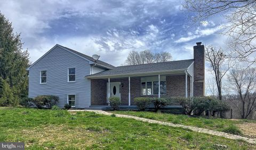
{"type": "Polygon", "coordinates": [[[242,133],[248,137],[256,138],[256,123],[253,122],[244,122],[237,124],[242,133]]]}

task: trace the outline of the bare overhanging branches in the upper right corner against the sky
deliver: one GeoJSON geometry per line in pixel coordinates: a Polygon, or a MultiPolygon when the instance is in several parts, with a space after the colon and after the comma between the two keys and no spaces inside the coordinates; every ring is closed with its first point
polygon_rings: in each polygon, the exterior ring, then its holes
{"type": "Polygon", "coordinates": [[[249,57],[256,51],[255,0],[185,0],[183,8],[193,16],[189,19],[193,24],[218,14],[226,17],[222,33],[229,37],[229,48],[236,52],[235,57],[250,63],[256,61],[256,57],[249,57]]]}

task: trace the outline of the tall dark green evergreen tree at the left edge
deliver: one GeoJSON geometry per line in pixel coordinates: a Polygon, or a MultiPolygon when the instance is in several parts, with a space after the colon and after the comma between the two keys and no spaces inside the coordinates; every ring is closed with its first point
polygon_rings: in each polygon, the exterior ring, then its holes
{"type": "Polygon", "coordinates": [[[29,54],[22,45],[20,33],[14,33],[12,23],[0,12],[0,77],[17,99],[27,96],[28,86],[29,54]]]}

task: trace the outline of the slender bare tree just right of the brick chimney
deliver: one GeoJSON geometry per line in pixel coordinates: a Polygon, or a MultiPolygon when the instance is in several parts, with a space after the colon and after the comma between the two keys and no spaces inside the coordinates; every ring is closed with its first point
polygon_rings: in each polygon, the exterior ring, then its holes
{"type": "Polygon", "coordinates": [[[227,55],[223,54],[221,48],[208,46],[205,49],[206,62],[210,65],[210,72],[214,73],[215,83],[218,89],[218,98],[222,100],[222,78],[233,67],[227,55]]]}

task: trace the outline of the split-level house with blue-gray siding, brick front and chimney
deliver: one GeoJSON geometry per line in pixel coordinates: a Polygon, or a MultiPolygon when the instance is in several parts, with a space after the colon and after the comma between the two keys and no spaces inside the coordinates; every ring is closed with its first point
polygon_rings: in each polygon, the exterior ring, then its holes
{"type": "Polygon", "coordinates": [[[201,42],[194,46],[194,59],[118,67],[55,45],[27,68],[29,98],[56,95],[60,107],[89,108],[108,105],[110,96],[126,106],[141,96],[202,96],[204,62],[201,42]]]}

